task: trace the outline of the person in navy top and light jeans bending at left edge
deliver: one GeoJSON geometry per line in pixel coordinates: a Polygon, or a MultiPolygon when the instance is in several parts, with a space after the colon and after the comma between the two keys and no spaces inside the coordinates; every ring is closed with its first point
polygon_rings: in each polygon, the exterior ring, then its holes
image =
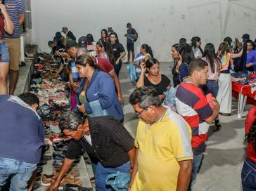
{"type": "Polygon", "coordinates": [[[0,95],[0,190],[11,177],[11,191],[27,190],[44,143],[44,123],[33,93],[0,95]],[[15,141],[14,141],[15,140],[15,141]]]}

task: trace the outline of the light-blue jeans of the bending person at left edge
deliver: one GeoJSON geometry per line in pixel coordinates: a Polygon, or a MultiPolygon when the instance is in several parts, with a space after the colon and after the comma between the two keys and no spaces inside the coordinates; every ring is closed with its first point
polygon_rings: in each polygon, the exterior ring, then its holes
{"type": "Polygon", "coordinates": [[[27,182],[35,169],[37,164],[0,157],[0,190],[9,176],[11,176],[11,191],[27,190],[27,182]]]}

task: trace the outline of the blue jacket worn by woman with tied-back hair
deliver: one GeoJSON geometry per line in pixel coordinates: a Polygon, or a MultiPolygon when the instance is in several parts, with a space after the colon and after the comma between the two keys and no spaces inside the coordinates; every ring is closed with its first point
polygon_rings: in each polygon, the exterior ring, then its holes
{"type": "MultiPolygon", "coordinates": [[[[82,91],[85,81],[86,79],[82,79],[79,84],[78,94],[82,91]]],[[[86,93],[88,102],[99,100],[102,110],[106,110],[110,116],[115,117],[118,121],[124,119],[122,106],[117,98],[113,79],[109,74],[95,70],[86,93]]],[[[85,103],[84,107],[88,114],[92,112],[89,103],[85,103]]]]}

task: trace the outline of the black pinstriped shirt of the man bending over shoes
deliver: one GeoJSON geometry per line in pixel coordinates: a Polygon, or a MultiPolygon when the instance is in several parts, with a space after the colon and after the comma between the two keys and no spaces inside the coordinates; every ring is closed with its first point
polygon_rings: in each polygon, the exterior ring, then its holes
{"type": "Polygon", "coordinates": [[[84,137],[71,140],[65,157],[76,159],[83,149],[104,167],[115,168],[129,162],[127,152],[134,147],[134,139],[122,124],[110,116],[89,117],[88,123],[91,145],[84,137]]]}

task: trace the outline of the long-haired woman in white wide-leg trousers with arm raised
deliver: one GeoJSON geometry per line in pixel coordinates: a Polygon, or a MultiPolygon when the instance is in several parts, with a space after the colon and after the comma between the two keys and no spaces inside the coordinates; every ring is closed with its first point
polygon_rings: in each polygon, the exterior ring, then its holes
{"type": "MultiPolygon", "coordinates": [[[[229,53],[229,44],[222,42],[219,45],[218,58],[221,60],[222,65],[219,75],[219,91],[217,94],[217,101],[219,102],[219,114],[229,116],[231,115],[232,105],[232,84],[231,75],[229,73],[230,58],[241,57],[243,51],[240,53],[229,53]]],[[[242,48],[243,50],[243,48],[242,48]]]]}

